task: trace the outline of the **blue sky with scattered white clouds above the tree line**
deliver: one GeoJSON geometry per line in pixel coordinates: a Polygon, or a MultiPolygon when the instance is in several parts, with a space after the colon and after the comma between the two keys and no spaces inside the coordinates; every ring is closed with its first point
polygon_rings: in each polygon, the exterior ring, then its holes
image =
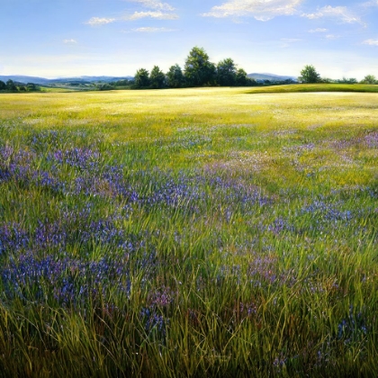
{"type": "Polygon", "coordinates": [[[202,47],[247,73],[378,76],[378,0],[0,0],[0,75],[165,72],[202,47]]]}

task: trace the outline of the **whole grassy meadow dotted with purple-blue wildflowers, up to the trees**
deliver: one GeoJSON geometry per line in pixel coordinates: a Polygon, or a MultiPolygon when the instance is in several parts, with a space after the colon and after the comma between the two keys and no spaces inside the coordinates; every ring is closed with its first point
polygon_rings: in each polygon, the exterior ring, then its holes
{"type": "Polygon", "coordinates": [[[0,96],[1,376],[377,376],[378,94],[253,91],[0,96]]]}

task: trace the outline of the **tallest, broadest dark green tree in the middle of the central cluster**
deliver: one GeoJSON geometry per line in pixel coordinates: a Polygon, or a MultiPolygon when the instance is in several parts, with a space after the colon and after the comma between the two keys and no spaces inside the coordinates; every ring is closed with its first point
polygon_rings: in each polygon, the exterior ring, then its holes
{"type": "Polygon", "coordinates": [[[215,65],[210,62],[205,50],[194,47],[185,60],[185,79],[188,85],[211,85],[215,81],[215,65]]]}

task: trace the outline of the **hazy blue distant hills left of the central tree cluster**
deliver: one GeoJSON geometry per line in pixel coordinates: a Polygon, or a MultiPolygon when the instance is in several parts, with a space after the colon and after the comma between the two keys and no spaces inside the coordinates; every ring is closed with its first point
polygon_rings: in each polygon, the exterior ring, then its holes
{"type": "Polygon", "coordinates": [[[17,83],[34,83],[39,85],[54,85],[54,84],[63,84],[69,82],[76,82],[76,83],[110,83],[112,81],[133,79],[132,76],[78,76],[78,77],[58,77],[55,79],[47,79],[44,77],[37,77],[37,76],[18,76],[18,75],[11,75],[11,76],[0,76],[0,80],[6,82],[7,80],[13,80],[17,83]]]}

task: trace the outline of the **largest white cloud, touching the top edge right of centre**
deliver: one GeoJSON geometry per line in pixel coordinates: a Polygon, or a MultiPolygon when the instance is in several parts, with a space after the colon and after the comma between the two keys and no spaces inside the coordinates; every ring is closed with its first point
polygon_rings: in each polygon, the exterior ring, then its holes
{"type": "Polygon", "coordinates": [[[213,6],[204,17],[242,17],[251,16],[259,21],[268,21],[275,16],[297,13],[297,5],[302,0],[229,0],[213,6]]]}

